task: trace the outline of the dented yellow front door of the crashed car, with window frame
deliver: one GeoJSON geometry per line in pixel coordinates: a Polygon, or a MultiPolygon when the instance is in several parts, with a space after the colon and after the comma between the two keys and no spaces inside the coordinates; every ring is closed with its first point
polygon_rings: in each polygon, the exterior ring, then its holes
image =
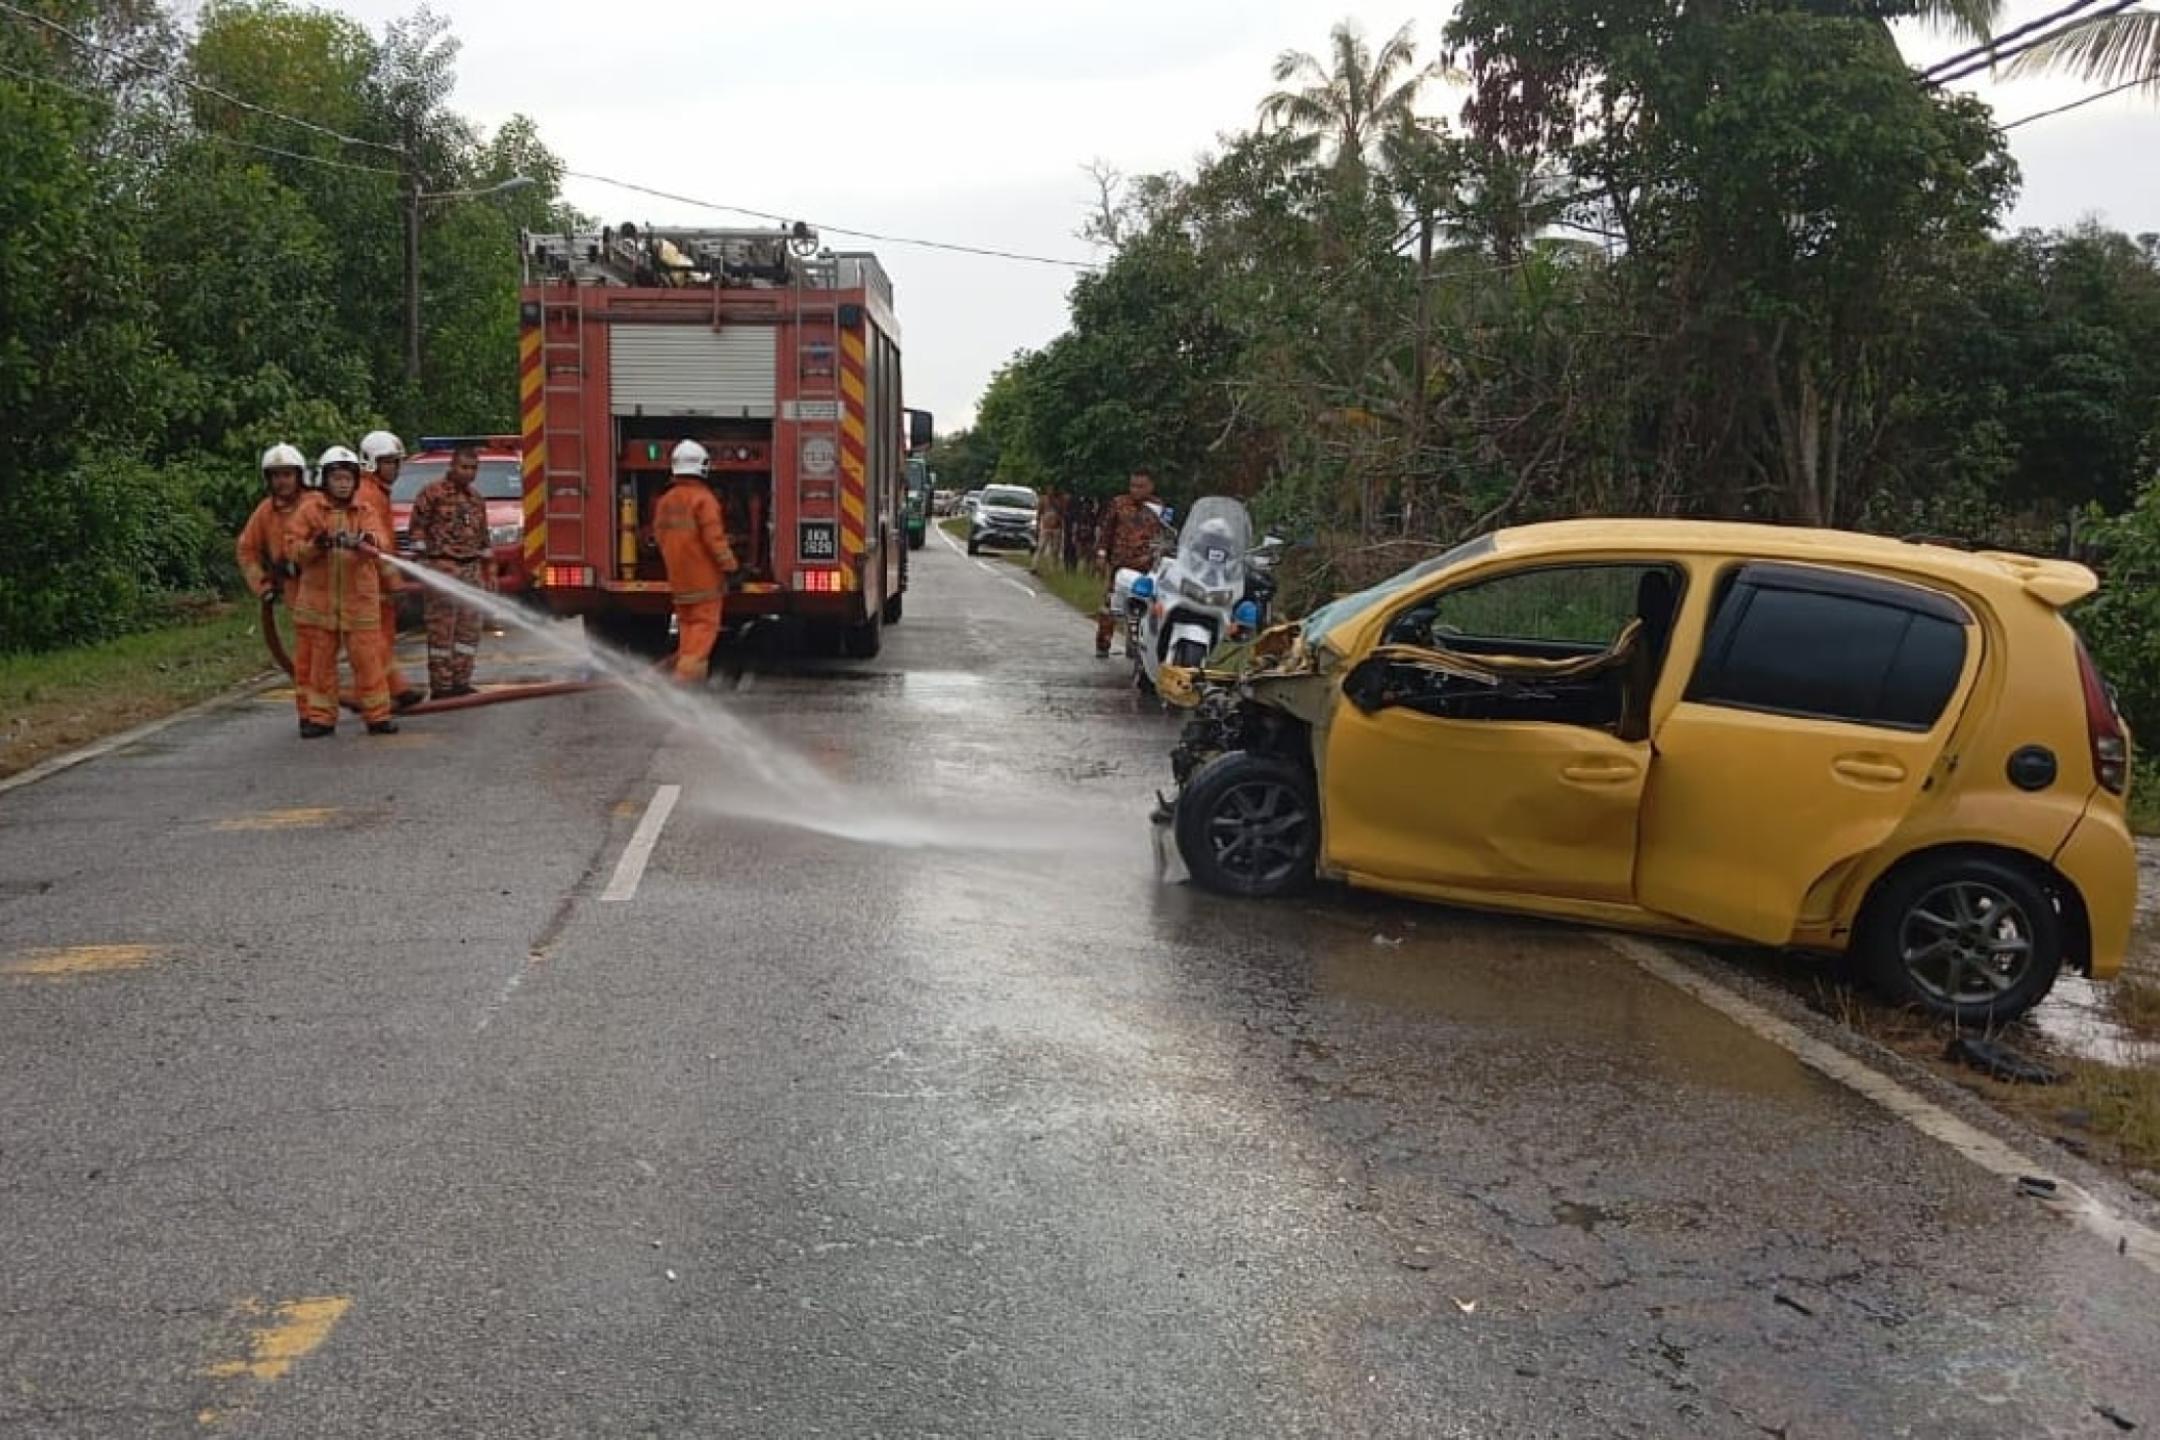
{"type": "Polygon", "coordinates": [[[1678,587],[1680,568],[1659,561],[1542,563],[1402,602],[1328,723],[1326,864],[1367,881],[1629,900],[1650,747],[1620,738],[1622,693],[1655,684],[1678,587]],[[1646,596],[1661,611],[1650,626],[1646,596]],[[1622,665],[1622,639],[1657,654],[1622,665]],[[1447,674],[1458,663],[1464,674],[1447,674]],[[1477,674],[1486,665],[1499,680],[1477,674]],[[1590,674],[1553,678],[1570,667],[1590,674]]]}

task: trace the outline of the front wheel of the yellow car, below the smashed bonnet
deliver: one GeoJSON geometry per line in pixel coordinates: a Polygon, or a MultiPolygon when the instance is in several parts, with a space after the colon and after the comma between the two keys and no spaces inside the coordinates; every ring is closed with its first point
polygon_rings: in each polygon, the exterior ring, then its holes
{"type": "Polygon", "coordinates": [[[1287,896],[1313,879],[1320,801],[1287,760],[1233,749],[1216,756],[1177,797],[1177,853],[1218,894],[1287,896]]]}

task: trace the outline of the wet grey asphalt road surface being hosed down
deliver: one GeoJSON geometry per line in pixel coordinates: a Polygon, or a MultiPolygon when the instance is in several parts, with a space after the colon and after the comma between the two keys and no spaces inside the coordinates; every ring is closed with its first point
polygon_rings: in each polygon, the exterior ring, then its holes
{"type": "Polygon", "coordinates": [[[2160,1429],[2151,1269],[1596,937],[1166,881],[1169,721],[918,561],[713,734],[0,797],[0,1434],[2160,1429]]]}

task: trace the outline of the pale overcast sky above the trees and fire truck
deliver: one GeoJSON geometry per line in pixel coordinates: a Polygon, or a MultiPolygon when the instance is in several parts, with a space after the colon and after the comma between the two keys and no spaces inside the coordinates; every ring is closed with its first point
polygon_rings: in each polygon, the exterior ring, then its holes
{"type": "MultiPolygon", "coordinates": [[[[2056,0],[2011,0],[2002,28],[2056,0]]],[[[346,0],[380,32],[413,0],[346,0]]],[[[1188,166],[1251,125],[1283,47],[1320,52],[1352,15],[1376,43],[1406,19],[1426,52],[1447,9],[1292,0],[825,0],[816,6],[438,0],[464,43],[456,104],[495,125],[540,121],[570,168],[698,199],[976,246],[1091,259],[1074,231],[1082,173],[1188,166]]],[[[1912,28],[1935,60],[1950,37],[1912,28]]],[[[1976,86],[2009,121],[2082,95],[2074,80],[1976,86]]],[[[1430,108],[1454,114],[1458,95],[1430,108]]],[[[2097,216],[2160,231],[2160,106],[2136,93],[2011,132],[2024,194],[2011,222],[2097,216]]],[[[607,220],[745,222],[590,181],[607,220]]],[[[858,244],[832,235],[836,244],[858,244]]],[[[1074,272],[873,244],[899,289],[907,399],[963,423],[989,373],[1065,326],[1074,272]]]]}

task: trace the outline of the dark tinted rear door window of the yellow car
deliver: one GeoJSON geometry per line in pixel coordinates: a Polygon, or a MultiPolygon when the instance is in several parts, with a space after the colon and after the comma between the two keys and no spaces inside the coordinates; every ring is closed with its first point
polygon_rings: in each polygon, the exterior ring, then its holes
{"type": "Polygon", "coordinates": [[[1970,615],[1875,576],[1750,566],[1711,617],[1687,697],[1892,730],[1929,730],[1966,671],[1970,615]]]}

